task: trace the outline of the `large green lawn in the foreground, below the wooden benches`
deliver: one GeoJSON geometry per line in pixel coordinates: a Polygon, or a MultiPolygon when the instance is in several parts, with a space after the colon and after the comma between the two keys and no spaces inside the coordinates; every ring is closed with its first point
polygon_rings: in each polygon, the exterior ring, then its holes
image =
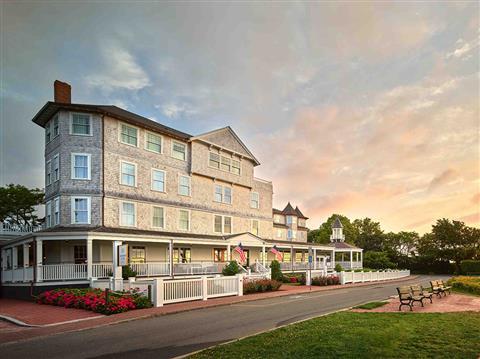
{"type": "Polygon", "coordinates": [[[480,313],[474,312],[339,312],[193,358],[478,358],[479,328],[480,313]]]}

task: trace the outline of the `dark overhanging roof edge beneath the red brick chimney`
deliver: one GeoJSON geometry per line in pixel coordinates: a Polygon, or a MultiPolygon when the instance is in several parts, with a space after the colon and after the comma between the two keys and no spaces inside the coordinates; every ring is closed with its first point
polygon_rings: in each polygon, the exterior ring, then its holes
{"type": "Polygon", "coordinates": [[[161,123],[113,105],[58,103],[49,101],[40,109],[40,111],[38,111],[32,121],[39,126],[45,127],[45,124],[52,118],[52,116],[54,116],[60,110],[92,112],[111,116],[132,125],[145,127],[184,141],[188,141],[192,137],[188,133],[175,130],[174,128],[162,125],[161,123]]]}

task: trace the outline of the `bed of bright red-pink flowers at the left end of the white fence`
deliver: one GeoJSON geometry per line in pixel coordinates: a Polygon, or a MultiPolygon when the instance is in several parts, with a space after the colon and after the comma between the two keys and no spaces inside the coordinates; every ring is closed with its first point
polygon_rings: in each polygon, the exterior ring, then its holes
{"type": "Polygon", "coordinates": [[[121,293],[110,292],[108,303],[105,291],[92,288],[60,288],[41,293],[37,303],[57,305],[65,308],[91,310],[106,315],[152,306],[148,298],[131,290],[121,293]]]}

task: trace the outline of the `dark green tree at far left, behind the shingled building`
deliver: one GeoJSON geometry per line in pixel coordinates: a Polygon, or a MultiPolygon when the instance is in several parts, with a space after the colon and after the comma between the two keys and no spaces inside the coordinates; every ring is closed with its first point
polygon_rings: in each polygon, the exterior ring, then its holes
{"type": "Polygon", "coordinates": [[[16,225],[36,225],[35,206],[43,202],[44,193],[38,188],[9,184],[0,187],[0,221],[16,225]]]}

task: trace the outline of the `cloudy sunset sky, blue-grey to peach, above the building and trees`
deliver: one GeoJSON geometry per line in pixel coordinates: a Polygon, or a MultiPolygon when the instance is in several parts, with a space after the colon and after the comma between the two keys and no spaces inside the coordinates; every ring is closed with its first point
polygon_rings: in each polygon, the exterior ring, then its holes
{"type": "Polygon", "coordinates": [[[53,81],[190,134],[230,125],[317,228],[480,225],[478,2],[0,0],[0,185],[43,188],[53,81]]]}

